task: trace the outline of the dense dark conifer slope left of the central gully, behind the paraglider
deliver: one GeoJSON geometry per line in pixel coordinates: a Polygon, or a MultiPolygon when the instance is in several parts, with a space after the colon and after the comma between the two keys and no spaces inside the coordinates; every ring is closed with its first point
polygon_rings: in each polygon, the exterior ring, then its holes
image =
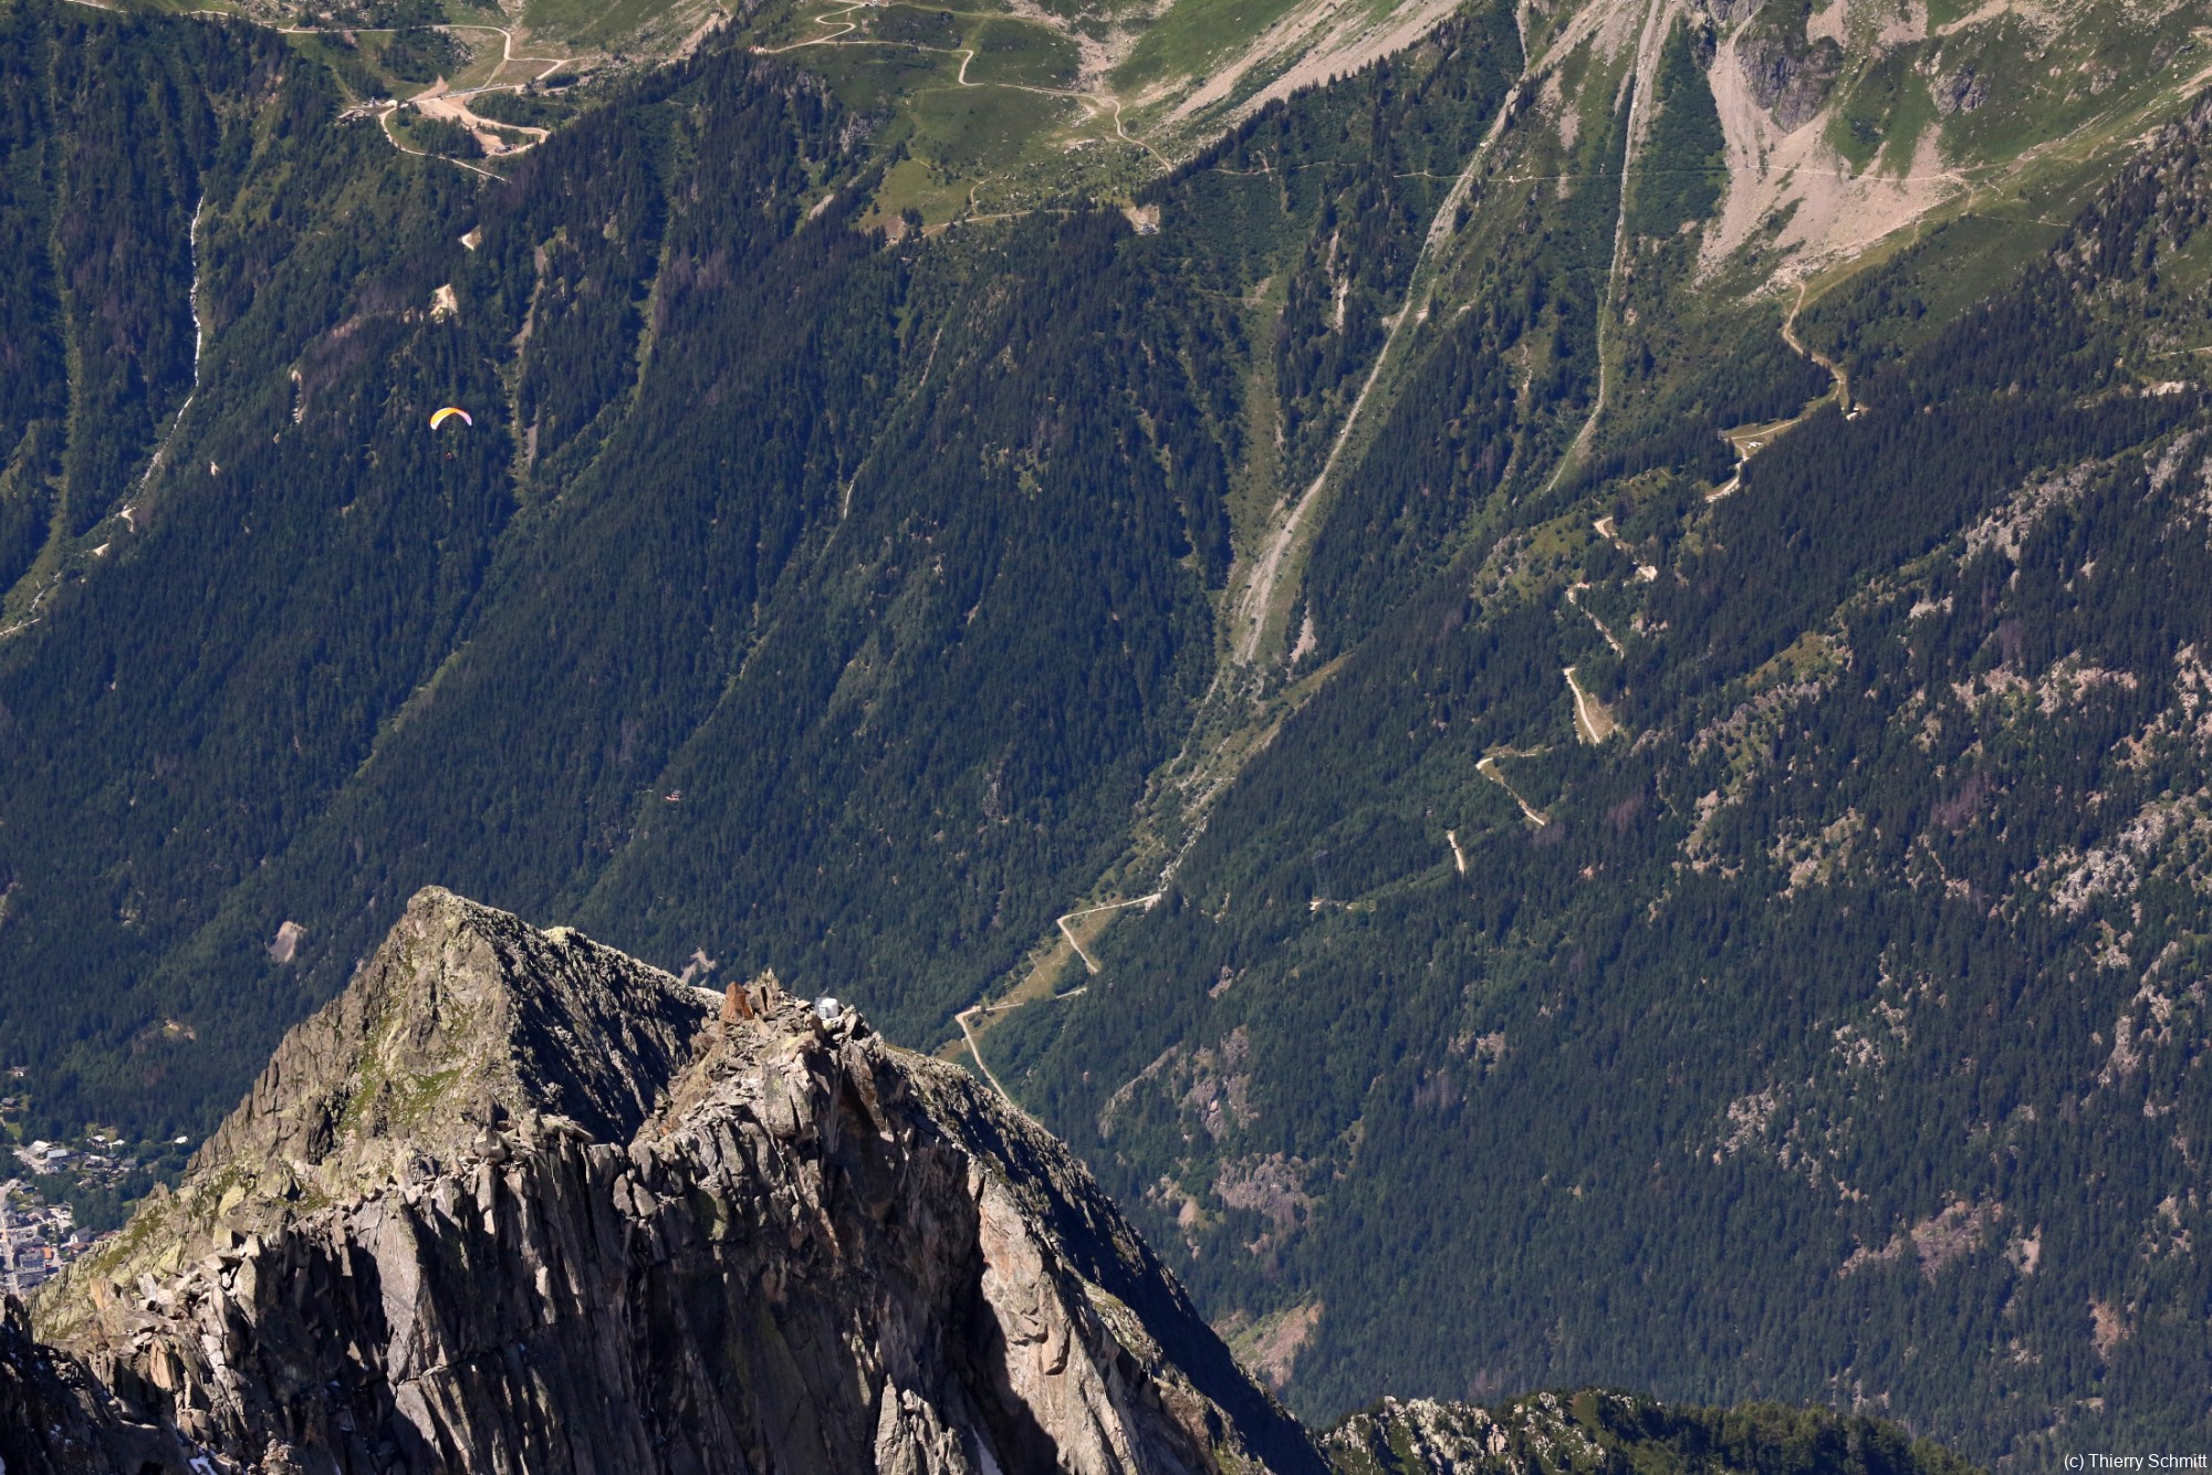
{"type": "Polygon", "coordinates": [[[33,1126],[197,1123],[431,878],[942,1028],[1206,679],[1239,325],[1113,215],[887,250],[838,104],[734,51],[482,188],[252,86],[197,84],[190,414],[62,473],[108,546],[55,529],[0,652],[9,973],[77,980],[4,1002],[33,1126]]]}

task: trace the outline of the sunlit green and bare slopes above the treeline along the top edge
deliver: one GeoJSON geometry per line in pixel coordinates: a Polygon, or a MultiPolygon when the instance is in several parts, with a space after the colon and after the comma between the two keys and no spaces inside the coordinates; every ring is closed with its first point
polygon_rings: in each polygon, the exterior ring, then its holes
{"type": "MultiPolygon", "coordinates": [[[[465,111],[469,97],[500,102],[544,77],[622,77],[728,29],[823,73],[869,115],[898,153],[878,219],[911,208],[940,223],[1126,197],[1270,100],[1402,53],[1458,9],[768,0],[732,15],[701,0],[531,0],[518,13],[460,0],[332,11],[252,0],[241,13],[285,24],[358,97],[451,88],[465,111]]],[[[2024,164],[2093,157],[2139,133],[2212,64],[2201,7],[2177,0],[1571,0],[1517,7],[1515,24],[1531,53],[1566,62],[1586,42],[1606,57],[1639,53],[1644,71],[1666,33],[1686,29],[1725,126],[1717,161],[1734,181],[1703,243],[1708,270],[1763,245],[1832,263],[1929,210],[1986,208],[2017,195],[2024,164]]],[[[1546,104],[1579,106],[1575,93],[1577,77],[1562,75],[1546,104]]],[[[500,153],[531,146],[529,128],[564,108],[500,102],[471,119],[436,104],[427,115],[429,126],[414,108],[396,122],[434,153],[451,144],[438,119],[500,153]]]]}

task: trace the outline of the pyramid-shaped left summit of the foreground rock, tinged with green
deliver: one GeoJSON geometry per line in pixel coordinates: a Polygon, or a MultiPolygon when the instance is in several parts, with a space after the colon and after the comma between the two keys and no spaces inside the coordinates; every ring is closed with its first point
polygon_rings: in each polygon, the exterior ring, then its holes
{"type": "Polygon", "coordinates": [[[279,1044],[246,1099],[46,1316],[113,1316],[104,1283],[168,1274],[303,1212],[500,1159],[549,1132],[622,1143],[714,995],[573,929],[440,887],[407,902],[354,982],[279,1044]]]}

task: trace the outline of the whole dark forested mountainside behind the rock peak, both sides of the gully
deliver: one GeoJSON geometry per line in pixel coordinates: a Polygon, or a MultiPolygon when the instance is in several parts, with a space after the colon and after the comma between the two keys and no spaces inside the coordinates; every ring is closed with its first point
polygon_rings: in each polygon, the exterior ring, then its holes
{"type": "Polygon", "coordinates": [[[7,1128],[206,1130],[436,882],[916,1046],[1051,984],[991,1070],[1305,1413],[2201,1440],[2208,124],[1790,305],[1650,40],[1469,4],[918,234],[805,51],[491,179],[0,0],[7,1128]]]}

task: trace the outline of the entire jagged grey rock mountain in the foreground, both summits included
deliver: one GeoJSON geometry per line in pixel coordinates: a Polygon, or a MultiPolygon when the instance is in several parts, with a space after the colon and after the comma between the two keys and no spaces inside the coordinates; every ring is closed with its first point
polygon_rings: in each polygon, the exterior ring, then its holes
{"type": "Polygon", "coordinates": [[[38,1316],[11,1473],[1323,1468],[964,1073],[442,891],[38,1316]]]}

